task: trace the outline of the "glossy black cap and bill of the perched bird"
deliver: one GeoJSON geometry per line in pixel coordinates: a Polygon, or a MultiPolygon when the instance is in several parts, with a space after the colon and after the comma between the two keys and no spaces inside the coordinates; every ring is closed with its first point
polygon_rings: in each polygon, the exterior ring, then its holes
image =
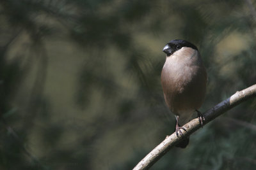
{"type": "Polygon", "coordinates": [[[192,43],[189,43],[188,41],[182,40],[182,39],[173,39],[169,43],[167,43],[166,46],[163,48],[163,52],[167,54],[167,56],[172,55],[174,52],[182,48],[183,46],[191,47],[195,50],[197,50],[196,46],[192,43]]]}

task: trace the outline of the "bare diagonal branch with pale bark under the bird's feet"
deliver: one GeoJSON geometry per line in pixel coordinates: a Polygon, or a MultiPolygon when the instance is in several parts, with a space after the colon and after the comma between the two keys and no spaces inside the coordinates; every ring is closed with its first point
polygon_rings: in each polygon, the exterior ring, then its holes
{"type": "MultiPolygon", "coordinates": [[[[247,89],[241,90],[240,92],[236,92],[236,94],[232,95],[228,99],[225,99],[225,101],[222,101],[221,103],[217,104],[210,110],[206,111],[204,113],[205,121],[204,125],[211,122],[214,118],[220,116],[225,111],[228,111],[234,106],[237,106],[238,104],[242,103],[243,101],[246,101],[247,99],[251,97],[256,96],[256,85],[252,85],[251,87],[248,87],[247,89]]],[[[200,129],[200,122],[198,121],[198,118],[194,118],[188,124],[183,126],[186,129],[186,132],[183,131],[184,136],[181,138],[177,138],[176,134],[173,133],[170,136],[166,136],[166,139],[162,143],[160,143],[154,150],[152,150],[148,155],[142,159],[136,167],[134,167],[133,170],[138,169],[149,169],[151,166],[154,165],[154,163],[157,162],[170,148],[177,145],[183,138],[186,138],[186,136],[189,136],[196,130],[200,129]]]]}

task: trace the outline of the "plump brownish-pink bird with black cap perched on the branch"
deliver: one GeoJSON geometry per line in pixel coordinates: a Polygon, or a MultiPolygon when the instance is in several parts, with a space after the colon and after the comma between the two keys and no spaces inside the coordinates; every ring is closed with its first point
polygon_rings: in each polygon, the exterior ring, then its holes
{"type": "MultiPolygon", "coordinates": [[[[183,136],[182,125],[189,122],[195,111],[201,125],[204,115],[198,111],[204,102],[207,71],[200,57],[198,48],[183,39],[173,39],[167,43],[163,52],[166,60],[161,73],[166,105],[175,115],[175,132],[177,137],[183,136]]],[[[189,136],[182,139],[176,146],[186,148],[189,136]]]]}

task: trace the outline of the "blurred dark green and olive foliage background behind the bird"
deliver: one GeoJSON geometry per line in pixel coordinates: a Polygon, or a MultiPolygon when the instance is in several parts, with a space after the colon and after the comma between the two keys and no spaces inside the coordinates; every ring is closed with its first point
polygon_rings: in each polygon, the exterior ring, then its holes
{"type": "MultiPolygon", "coordinates": [[[[173,132],[163,46],[200,49],[201,111],[256,83],[253,0],[0,1],[0,169],[132,169],[173,132]]],[[[255,169],[256,99],[152,169],[255,169]]]]}

